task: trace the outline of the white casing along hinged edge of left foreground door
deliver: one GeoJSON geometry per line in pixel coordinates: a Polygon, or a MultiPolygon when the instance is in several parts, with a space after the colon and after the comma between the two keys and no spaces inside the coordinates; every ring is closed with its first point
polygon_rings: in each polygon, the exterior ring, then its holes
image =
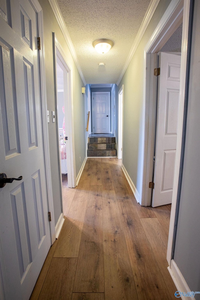
{"type": "Polygon", "coordinates": [[[55,219],[53,208],[53,192],[52,192],[52,180],[51,180],[51,167],[50,167],[50,153],[49,153],[49,138],[48,138],[48,123],[47,123],[47,94],[46,94],[46,75],[45,75],[45,63],[44,63],[44,37],[43,37],[43,12],[42,8],[37,0],[29,0],[37,12],[38,16],[38,29],[41,41],[40,53],[40,88],[41,88],[41,107],[42,107],[42,137],[44,147],[44,160],[45,160],[45,175],[47,181],[47,200],[49,211],[51,212],[51,242],[55,242],[55,219]]]}

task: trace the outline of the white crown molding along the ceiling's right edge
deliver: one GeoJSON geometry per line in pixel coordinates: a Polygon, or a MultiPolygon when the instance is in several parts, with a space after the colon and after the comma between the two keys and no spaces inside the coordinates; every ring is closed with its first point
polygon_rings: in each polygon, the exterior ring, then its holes
{"type": "Polygon", "coordinates": [[[149,22],[150,22],[150,20],[151,20],[151,18],[153,16],[153,13],[155,12],[155,10],[156,10],[156,8],[158,6],[159,1],[160,0],[152,0],[150,2],[148,10],[147,10],[147,12],[146,12],[146,14],[144,16],[143,22],[142,22],[142,24],[140,26],[138,34],[137,34],[137,36],[136,36],[136,38],[134,40],[133,46],[132,46],[131,51],[130,51],[130,53],[128,55],[128,58],[126,60],[126,63],[125,63],[125,65],[124,65],[124,67],[122,69],[122,72],[121,72],[121,74],[120,74],[120,76],[118,78],[117,85],[119,85],[120,81],[122,80],[123,75],[126,72],[126,69],[128,68],[128,65],[129,65],[129,63],[130,63],[130,61],[131,61],[131,59],[132,59],[132,57],[133,57],[136,49],[138,48],[139,42],[141,41],[141,39],[143,37],[143,34],[144,34],[145,30],[147,29],[147,26],[148,26],[148,24],[149,24],[149,22]]]}

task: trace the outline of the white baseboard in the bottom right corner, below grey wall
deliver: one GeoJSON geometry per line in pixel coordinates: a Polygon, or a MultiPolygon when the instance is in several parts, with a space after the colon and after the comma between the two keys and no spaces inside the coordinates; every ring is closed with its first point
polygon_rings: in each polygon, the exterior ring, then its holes
{"type": "MultiPolygon", "coordinates": [[[[179,270],[176,262],[173,259],[171,260],[170,267],[168,267],[168,271],[169,271],[169,273],[170,273],[170,275],[171,275],[171,277],[173,279],[173,282],[174,282],[174,284],[175,284],[175,286],[177,288],[177,291],[182,292],[182,293],[186,293],[186,294],[188,292],[191,292],[190,288],[187,285],[187,282],[185,281],[185,279],[184,279],[181,271],[179,270]]],[[[181,295],[181,299],[185,300],[186,297],[183,296],[183,294],[182,294],[181,295]]],[[[192,295],[189,296],[189,297],[187,297],[187,299],[191,299],[191,300],[194,299],[195,300],[195,298],[192,297],[192,295]]]]}

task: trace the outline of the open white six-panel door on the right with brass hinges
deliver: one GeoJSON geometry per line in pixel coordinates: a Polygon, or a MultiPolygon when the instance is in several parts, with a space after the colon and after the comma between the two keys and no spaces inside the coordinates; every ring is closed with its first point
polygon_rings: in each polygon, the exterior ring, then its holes
{"type": "Polygon", "coordinates": [[[181,56],[161,53],[152,206],[172,203],[181,56]]]}

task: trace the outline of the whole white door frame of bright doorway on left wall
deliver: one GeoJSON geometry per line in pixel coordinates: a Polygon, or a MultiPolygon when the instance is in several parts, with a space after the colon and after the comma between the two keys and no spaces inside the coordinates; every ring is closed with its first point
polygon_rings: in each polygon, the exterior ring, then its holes
{"type": "MultiPolygon", "coordinates": [[[[67,107],[67,111],[65,110],[65,116],[67,114],[67,118],[65,124],[68,128],[68,143],[66,144],[66,151],[68,154],[67,160],[67,168],[68,168],[68,187],[76,187],[76,169],[75,169],[75,146],[74,146],[74,122],[73,122],[73,84],[72,84],[72,68],[70,66],[69,60],[67,55],[65,54],[61,44],[59,43],[58,39],[54,32],[53,35],[53,61],[54,61],[54,81],[55,81],[55,102],[56,102],[56,111],[55,115],[58,120],[58,110],[57,110],[57,74],[56,74],[56,57],[58,55],[59,59],[63,63],[64,67],[68,72],[68,97],[64,98],[64,106],[67,107]]],[[[57,128],[57,148],[59,152],[59,136],[58,136],[58,122],[56,122],[57,128]]],[[[59,158],[59,156],[58,156],[59,158]]],[[[59,171],[60,171],[60,192],[62,195],[63,201],[63,192],[62,192],[62,174],[61,174],[61,167],[60,167],[60,160],[58,162],[59,171]]],[[[63,203],[62,203],[63,207],[63,203]]]]}

